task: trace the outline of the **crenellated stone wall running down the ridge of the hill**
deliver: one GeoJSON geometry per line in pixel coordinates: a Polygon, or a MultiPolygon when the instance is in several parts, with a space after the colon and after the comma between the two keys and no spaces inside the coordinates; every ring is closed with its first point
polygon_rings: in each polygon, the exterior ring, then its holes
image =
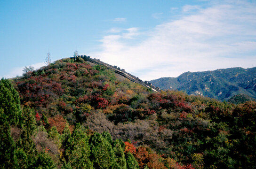
{"type": "Polygon", "coordinates": [[[124,69],[120,69],[120,67],[117,66],[112,66],[110,64],[107,64],[103,61],[100,61],[99,59],[92,59],[90,58],[90,56],[86,56],[86,55],[78,55],[77,57],[71,57],[71,59],[77,59],[77,58],[82,58],[85,61],[89,61],[91,63],[96,63],[99,65],[104,65],[107,69],[112,69],[114,70],[116,73],[120,74],[123,77],[128,78],[130,81],[137,83],[137,84],[141,84],[149,89],[152,89],[152,91],[155,92],[160,92],[160,88],[159,87],[155,87],[153,86],[151,83],[149,83],[148,81],[142,81],[141,79],[139,79],[138,77],[135,77],[131,74],[129,74],[128,72],[126,72],[124,69]]]}

